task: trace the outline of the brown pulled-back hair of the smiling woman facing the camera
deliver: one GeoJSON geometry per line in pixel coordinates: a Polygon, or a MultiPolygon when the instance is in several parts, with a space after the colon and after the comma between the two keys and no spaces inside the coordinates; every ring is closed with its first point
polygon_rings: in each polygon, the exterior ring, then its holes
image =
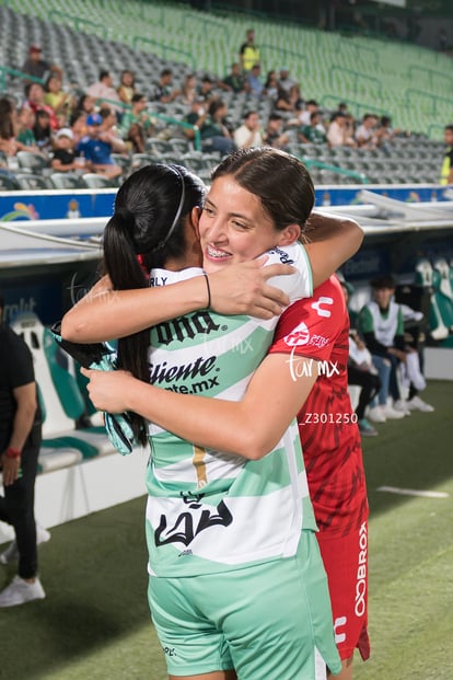
{"type": "Polygon", "coordinates": [[[309,171],[294,155],[271,147],[239,149],[221,161],[211,180],[225,175],[260,199],[276,229],[299,224],[304,231],[315,192],[309,171]]]}

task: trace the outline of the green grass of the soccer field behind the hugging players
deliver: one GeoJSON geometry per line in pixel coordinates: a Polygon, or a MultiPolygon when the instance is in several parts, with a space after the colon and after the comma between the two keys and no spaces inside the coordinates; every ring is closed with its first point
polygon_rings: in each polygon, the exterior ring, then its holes
{"type": "MultiPolygon", "coordinates": [[[[372,657],[356,659],[355,680],[453,678],[453,383],[430,382],[423,399],[434,413],[380,425],[363,442],[372,657]]],[[[143,516],[144,497],[53,529],[39,548],[47,598],[0,613],[2,680],[165,680],[143,516]]],[[[12,575],[0,565],[0,587],[12,575]]]]}

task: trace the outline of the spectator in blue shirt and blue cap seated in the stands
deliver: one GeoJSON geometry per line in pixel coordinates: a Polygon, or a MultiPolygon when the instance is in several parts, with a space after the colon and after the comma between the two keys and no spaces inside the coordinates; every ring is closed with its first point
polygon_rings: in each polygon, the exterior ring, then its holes
{"type": "Polygon", "coordinates": [[[78,146],[77,153],[84,157],[85,168],[89,172],[96,172],[108,180],[119,177],[123,172],[120,165],[114,163],[112,152],[123,152],[125,142],[120,140],[120,145],[116,147],[117,138],[102,131],[103,118],[100,114],[90,114],[86,118],[86,135],[78,146]]]}

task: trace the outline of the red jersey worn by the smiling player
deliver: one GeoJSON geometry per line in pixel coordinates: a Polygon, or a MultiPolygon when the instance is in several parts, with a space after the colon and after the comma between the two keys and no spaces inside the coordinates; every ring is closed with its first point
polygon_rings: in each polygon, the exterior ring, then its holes
{"type": "Polygon", "coordinates": [[[320,377],[298,422],[317,526],[332,535],[349,533],[368,516],[360,433],[348,392],[348,335],[345,298],[333,276],[284,311],[269,349],[289,355],[294,380],[318,362],[320,377]]]}

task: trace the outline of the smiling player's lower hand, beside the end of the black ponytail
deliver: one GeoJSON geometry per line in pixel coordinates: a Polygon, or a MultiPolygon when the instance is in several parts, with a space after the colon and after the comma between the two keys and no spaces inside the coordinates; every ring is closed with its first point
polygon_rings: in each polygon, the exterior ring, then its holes
{"type": "Polygon", "coordinates": [[[98,411],[124,413],[129,411],[128,394],[136,378],[128,371],[98,371],[81,368],[82,376],[90,380],[86,385],[90,399],[98,411]]]}

